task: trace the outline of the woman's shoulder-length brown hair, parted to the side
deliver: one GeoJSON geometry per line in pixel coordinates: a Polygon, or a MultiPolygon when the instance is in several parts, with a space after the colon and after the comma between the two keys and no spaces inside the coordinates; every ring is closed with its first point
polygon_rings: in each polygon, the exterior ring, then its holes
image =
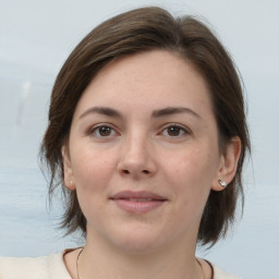
{"type": "Polygon", "coordinates": [[[104,22],[76,46],[57,76],[40,149],[43,163],[50,172],[49,195],[51,198],[61,186],[65,198],[61,227],[68,233],[80,229],[86,234],[76,192],[63,183],[61,148],[68,143],[75,107],[87,85],[108,63],[155,49],[178,53],[205,78],[218,124],[220,153],[233,136],[241,140],[236,174],[225,191],[210,192],[199,226],[199,244],[214,245],[233,225],[238,201],[243,202],[242,168],[250,138],[235,66],[216,36],[192,16],[174,19],[157,7],[132,10],[104,22]]]}

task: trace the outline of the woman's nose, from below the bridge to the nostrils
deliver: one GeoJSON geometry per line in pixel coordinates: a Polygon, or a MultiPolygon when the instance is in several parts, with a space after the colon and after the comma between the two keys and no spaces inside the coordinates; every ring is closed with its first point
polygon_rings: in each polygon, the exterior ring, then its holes
{"type": "Polygon", "coordinates": [[[157,172],[155,150],[147,138],[131,136],[123,141],[118,171],[134,179],[153,177],[157,172]]]}

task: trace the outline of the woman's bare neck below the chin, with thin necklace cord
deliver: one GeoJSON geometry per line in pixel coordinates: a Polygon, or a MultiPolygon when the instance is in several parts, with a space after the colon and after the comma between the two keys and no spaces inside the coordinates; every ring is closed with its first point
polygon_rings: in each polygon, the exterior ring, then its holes
{"type": "Polygon", "coordinates": [[[102,243],[101,240],[96,240],[96,235],[94,241],[87,238],[78,259],[80,279],[203,278],[203,271],[195,258],[195,245],[178,244],[172,243],[170,247],[148,253],[131,253],[102,243]]]}

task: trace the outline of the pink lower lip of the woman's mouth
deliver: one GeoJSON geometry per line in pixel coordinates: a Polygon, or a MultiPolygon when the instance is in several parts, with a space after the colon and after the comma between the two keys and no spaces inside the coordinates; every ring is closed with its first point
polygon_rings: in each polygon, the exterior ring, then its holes
{"type": "Polygon", "coordinates": [[[145,214],[163,205],[166,201],[134,202],[129,199],[112,199],[117,206],[132,214],[145,214]]]}

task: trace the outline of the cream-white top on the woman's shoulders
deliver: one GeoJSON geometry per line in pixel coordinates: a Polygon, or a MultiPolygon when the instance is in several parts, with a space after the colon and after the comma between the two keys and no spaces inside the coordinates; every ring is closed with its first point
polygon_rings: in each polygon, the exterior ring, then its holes
{"type": "MultiPolygon", "coordinates": [[[[72,279],[65,267],[66,251],[43,257],[0,257],[0,279],[72,279]]],[[[214,267],[214,279],[240,279],[214,267]]]]}

